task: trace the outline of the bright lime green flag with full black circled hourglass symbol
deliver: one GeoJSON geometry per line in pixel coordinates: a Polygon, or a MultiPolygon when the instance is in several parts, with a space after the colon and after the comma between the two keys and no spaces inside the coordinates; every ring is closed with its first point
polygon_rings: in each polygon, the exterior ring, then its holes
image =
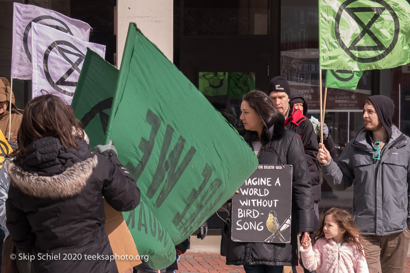
{"type": "Polygon", "coordinates": [[[405,0],[319,0],[321,69],[372,70],[410,62],[405,0]]]}

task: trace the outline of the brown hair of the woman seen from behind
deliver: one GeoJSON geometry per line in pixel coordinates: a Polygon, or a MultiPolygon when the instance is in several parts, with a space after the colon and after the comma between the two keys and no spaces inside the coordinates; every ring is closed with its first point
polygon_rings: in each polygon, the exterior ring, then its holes
{"type": "Polygon", "coordinates": [[[70,106],[51,94],[38,96],[27,103],[17,134],[17,161],[23,162],[29,144],[48,136],[58,137],[66,149],[76,150],[75,139],[84,139],[81,122],[74,117],[70,106]]]}

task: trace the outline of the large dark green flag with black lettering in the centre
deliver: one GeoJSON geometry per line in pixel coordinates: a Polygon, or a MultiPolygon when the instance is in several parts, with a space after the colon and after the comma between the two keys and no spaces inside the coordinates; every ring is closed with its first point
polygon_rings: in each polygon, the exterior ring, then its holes
{"type": "MultiPolygon", "coordinates": [[[[237,131],[134,24],[108,139],[174,244],[192,235],[258,166],[237,131]]],[[[128,217],[138,219],[137,212],[128,217]]],[[[133,234],[137,225],[129,228],[133,234]]]]}

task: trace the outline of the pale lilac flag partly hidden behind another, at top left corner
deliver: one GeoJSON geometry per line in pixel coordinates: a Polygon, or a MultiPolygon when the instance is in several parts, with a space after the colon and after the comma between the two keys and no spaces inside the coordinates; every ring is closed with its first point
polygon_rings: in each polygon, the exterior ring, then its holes
{"type": "Polygon", "coordinates": [[[14,3],[11,77],[31,79],[32,23],[42,24],[88,41],[90,25],[53,10],[14,3]]]}

